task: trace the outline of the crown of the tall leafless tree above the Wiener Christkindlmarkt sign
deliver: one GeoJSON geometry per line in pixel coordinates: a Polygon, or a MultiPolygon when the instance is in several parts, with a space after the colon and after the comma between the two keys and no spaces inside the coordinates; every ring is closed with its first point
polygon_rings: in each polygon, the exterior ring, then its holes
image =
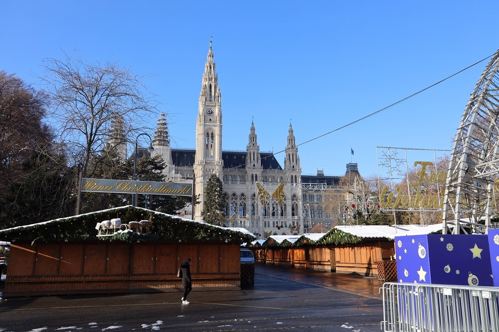
{"type": "Polygon", "coordinates": [[[113,119],[122,120],[123,137],[129,141],[149,129],[157,102],[144,85],[146,76],[134,75],[118,63],[90,64],[67,54],[43,62],[46,75],[41,80],[52,99],[54,125],[84,176],[92,175],[90,161],[109,141],[113,119]]]}

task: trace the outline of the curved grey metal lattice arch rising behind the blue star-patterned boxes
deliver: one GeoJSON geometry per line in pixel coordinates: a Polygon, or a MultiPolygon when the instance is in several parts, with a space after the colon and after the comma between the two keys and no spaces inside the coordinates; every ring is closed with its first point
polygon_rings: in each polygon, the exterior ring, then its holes
{"type": "Polygon", "coordinates": [[[443,202],[444,234],[486,232],[490,227],[499,174],[498,72],[499,51],[480,76],[454,139],[443,202]]]}

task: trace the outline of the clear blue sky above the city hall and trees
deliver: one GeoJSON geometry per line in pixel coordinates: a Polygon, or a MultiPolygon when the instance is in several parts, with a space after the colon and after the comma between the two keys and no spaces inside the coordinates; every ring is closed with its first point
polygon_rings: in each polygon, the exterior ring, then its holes
{"type": "MultiPolygon", "coordinates": [[[[42,59],[76,48],[88,62],[112,58],[156,74],[146,84],[174,117],[173,145],[193,148],[213,36],[224,149],[245,150],[253,117],[260,149],[279,152],[290,119],[299,144],[493,54],[498,9],[496,1],[5,1],[0,69],[37,87],[42,59]]],[[[451,149],[486,64],[300,145],[303,173],[340,175],[352,161],[375,174],[376,146],[451,149]]]]}

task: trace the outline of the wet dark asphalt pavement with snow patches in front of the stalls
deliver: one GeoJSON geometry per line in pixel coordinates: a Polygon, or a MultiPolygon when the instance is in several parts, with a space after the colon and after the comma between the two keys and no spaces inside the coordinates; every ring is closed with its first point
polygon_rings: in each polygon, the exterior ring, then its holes
{"type": "Polygon", "coordinates": [[[182,293],[32,296],[0,299],[0,332],[352,331],[378,332],[382,282],[257,264],[255,286],[182,293]]]}

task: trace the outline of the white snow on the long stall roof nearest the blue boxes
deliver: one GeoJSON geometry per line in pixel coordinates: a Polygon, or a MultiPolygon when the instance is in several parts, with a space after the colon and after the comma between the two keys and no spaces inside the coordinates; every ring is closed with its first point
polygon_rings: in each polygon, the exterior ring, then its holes
{"type": "Polygon", "coordinates": [[[336,226],[339,230],[358,237],[384,237],[393,240],[395,236],[430,234],[442,229],[442,224],[435,225],[353,225],[336,226]]]}

